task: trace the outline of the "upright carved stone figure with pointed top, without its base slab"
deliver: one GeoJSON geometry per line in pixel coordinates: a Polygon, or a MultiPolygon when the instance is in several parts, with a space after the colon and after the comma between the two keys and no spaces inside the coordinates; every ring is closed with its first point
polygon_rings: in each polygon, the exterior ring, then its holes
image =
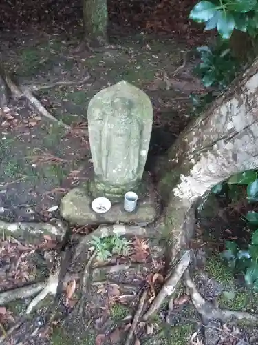
{"type": "Polygon", "coordinates": [[[89,142],[96,197],[118,199],[138,191],[149,150],[153,108],[142,90],[126,81],[101,90],[89,102],[89,142]]]}

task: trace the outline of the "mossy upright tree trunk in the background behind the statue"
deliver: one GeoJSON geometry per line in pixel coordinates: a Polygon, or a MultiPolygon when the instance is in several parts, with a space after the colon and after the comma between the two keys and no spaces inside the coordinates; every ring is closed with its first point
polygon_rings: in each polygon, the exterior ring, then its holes
{"type": "Polygon", "coordinates": [[[105,44],[107,19],[107,0],[83,0],[83,30],[87,41],[105,44]]]}

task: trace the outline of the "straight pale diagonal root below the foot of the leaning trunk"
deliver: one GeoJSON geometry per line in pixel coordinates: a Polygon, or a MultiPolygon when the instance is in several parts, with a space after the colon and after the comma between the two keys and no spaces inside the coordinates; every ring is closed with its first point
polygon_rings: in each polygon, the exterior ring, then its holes
{"type": "Polygon", "coordinates": [[[164,302],[164,299],[175,291],[175,287],[184,274],[184,271],[189,266],[190,259],[190,250],[187,250],[186,253],[182,255],[180,261],[178,262],[178,265],[175,267],[175,270],[173,270],[171,276],[166,279],[166,282],[162,286],[158,295],[153,300],[153,303],[149,307],[149,310],[144,314],[144,321],[147,321],[147,319],[149,319],[151,315],[156,313],[156,311],[158,311],[158,309],[160,308],[162,302],[164,302]]]}

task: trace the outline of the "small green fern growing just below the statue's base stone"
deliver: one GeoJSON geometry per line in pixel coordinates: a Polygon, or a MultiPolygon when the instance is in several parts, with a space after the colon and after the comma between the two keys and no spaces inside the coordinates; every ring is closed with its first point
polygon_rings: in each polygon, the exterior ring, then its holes
{"type": "Polygon", "coordinates": [[[92,246],[97,251],[97,259],[101,261],[107,260],[112,254],[127,256],[130,253],[131,242],[118,235],[99,238],[92,236],[92,246]]]}

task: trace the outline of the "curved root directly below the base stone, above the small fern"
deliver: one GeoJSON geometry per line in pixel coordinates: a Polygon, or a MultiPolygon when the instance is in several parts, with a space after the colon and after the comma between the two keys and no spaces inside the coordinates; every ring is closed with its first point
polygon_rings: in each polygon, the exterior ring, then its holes
{"type": "Polygon", "coordinates": [[[92,241],[92,236],[100,238],[125,234],[146,236],[149,232],[152,233],[152,230],[149,228],[149,226],[133,226],[123,224],[99,226],[96,230],[92,231],[92,233],[83,236],[83,238],[80,240],[76,247],[76,252],[74,253],[74,260],[80,255],[80,253],[83,253],[85,250],[87,250],[89,242],[92,241]]]}

